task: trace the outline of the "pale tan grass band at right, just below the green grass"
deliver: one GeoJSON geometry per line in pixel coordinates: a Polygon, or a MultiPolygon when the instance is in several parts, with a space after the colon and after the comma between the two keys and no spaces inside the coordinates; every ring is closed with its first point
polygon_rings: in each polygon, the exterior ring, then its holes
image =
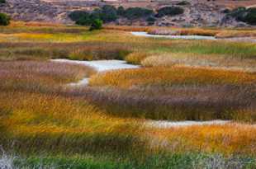
{"type": "Polygon", "coordinates": [[[256,72],[254,59],[235,59],[227,54],[187,54],[166,53],[151,54],[140,59],[140,64],[145,67],[172,67],[183,65],[188,67],[208,67],[216,69],[241,70],[256,72]]]}

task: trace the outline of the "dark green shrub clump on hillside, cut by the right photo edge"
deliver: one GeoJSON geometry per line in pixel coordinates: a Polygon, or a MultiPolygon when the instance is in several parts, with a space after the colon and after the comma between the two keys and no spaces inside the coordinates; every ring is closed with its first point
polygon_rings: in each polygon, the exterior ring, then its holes
{"type": "Polygon", "coordinates": [[[234,17],[236,21],[244,21],[249,25],[256,25],[256,8],[238,7],[228,15],[234,17]]]}

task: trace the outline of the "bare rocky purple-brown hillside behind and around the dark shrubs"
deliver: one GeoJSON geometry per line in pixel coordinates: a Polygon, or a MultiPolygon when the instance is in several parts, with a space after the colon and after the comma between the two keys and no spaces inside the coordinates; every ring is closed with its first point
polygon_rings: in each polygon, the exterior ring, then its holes
{"type": "MultiPolygon", "coordinates": [[[[73,11],[92,11],[94,8],[109,4],[115,7],[146,7],[158,10],[160,7],[177,6],[177,0],[169,1],[129,1],[129,0],[7,0],[0,5],[0,12],[8,13],[14,20],[21,21],[51,21],[70,23],[68,14],[73,11]]],[[[242,22],[230,20],[225,17],[225,9],[235,7],[251,7],[254,0],[190,0],[189,4],[182,5],[184,13],[178,16],[164,16],[155,21],[156,26],[248,26],[242,22]]],[[[127,21],[120,19],[118,25],[142,25],[145,20],[127,21]]]]}

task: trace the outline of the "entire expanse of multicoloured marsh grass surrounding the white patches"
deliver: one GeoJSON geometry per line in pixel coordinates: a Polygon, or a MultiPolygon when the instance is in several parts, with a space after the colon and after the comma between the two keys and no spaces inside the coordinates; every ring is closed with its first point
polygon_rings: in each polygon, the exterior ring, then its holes
{"type": "Polygon", "coordinates": [[[254,44],[140,38],[126,32],[130,27],[87,29],[0,27],[0,59],[8,60],[0,62],[0,143],[7,154],[21,155],[0,162],[16,168],[255,168],[254,125],[144,125],[145,119],[254,123],[256,78],[244,73],[254,66],[254,44]],[[45,61],[59,58],[125,59],[152,68],[94,76],[92,68],[45,61]],[[181,58],[190,66],[205,59],[242,70],[173,67],[181,58]],[[225,58],[232,63],[222,63],[225,58]],[[90,76],[90,87],[64,87],[90,76]]]}

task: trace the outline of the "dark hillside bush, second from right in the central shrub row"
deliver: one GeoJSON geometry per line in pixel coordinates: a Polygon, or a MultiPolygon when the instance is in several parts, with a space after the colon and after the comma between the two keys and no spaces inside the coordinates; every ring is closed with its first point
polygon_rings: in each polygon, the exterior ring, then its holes
{"type": "Polygon", "coordinates": [[[151,9],[143,7],[129,7],[126,9],[125,17],[127,19],[133,20],[141,17],[148,17],[153,15],[154,12],[151,9]]]}

